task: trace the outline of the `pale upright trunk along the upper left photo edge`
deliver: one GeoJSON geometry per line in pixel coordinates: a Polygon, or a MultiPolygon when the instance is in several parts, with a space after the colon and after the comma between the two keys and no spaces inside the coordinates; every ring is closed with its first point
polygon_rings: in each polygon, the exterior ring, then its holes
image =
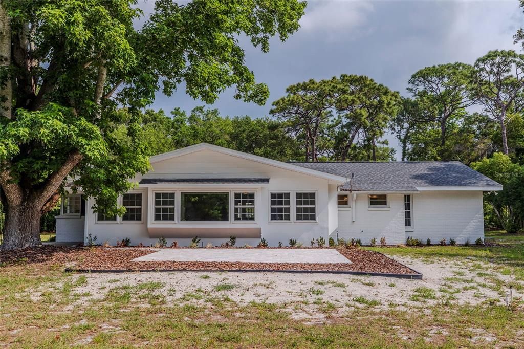
{"type": "MultiPolygon", "coordinates": [[[[3,0],[0,0],[0,67],[11,65],[11,28],[3,0]]],[[[0,115],[11,118],[13,84],[10,77],[0,86],[0,115]]]]}

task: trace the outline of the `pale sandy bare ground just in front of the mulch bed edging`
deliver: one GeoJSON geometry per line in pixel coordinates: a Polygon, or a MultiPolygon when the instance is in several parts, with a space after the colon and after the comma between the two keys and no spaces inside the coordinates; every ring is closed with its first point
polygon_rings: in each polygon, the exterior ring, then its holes
{"type": "MultiPolygon", "coordinates": [[[[301,304],[297,318],[322,317],[321,308],[328,305],[333,311],[365,307],[420,311],[428,304],[451,302],[478,304],[505,303],[509,286],[514,299],[521,298],[524,283],[490,269],[488,264],[460,259],[424,261],[397,258],[423,274],[422,280],[386,277],[292,274],[283,272],[129,272],[78,274],[86,277],[83,286],[74,289],[82,297],[78,303],[103,301],[111,290],[129,290],[151,283],[140,292],[160,296],[166,304],[206,304],[211,298],[224,298],[238,304],[252,301],[301,304]]],[[[39,290],[31,292],[38,298],[39,290]]],[[[211,303],[210,303],[211,304],[211,303]]]]}

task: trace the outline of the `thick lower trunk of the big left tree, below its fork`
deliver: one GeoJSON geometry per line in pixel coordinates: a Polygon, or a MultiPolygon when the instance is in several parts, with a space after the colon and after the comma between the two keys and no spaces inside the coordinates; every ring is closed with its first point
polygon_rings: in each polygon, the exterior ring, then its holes
{"type": "Polygon", "coordinates": [[[20,205],[7,206],[4,239],[0,246],[2,250],[42,244],[40,240],[41,208],[35,206],[31,201],[25,199],[20,205]]]}

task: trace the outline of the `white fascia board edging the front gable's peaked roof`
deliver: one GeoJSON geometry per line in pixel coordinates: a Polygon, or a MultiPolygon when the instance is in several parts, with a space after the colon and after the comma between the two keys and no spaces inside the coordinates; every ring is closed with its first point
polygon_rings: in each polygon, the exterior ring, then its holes
{"type": "Polygon", "coordinates": [[[272,159],[268,159],[268,158],[261,157],[258,155],[247,154],[246,152],[227,149],[227,148],[215,146],[215,145],[208,144],[208,143],[200,143],[200,144],[196,144],[190,147],[185,147],[182,149],[177,149],[177,150],[165,152],[163,154],[151,156],[149,158],[149,162],[155,163],[155,162],[159,162],[159,161],[163,161],[163,160],[167,160],[167,159],[171,159],[171,158],[175,158],[175,157],[179,157],[183,155],[188,155],[188,154],[191,154],[192,152],[201,151],[201,150],[212,150],[212,151],[220,152],[222,154],[234,156],[237,158],[242,158],[242,159],[251,160],[251,161],[255,161],[259,163],[264,163],[265,165],[274,166],[274,167],[278,167],[281,169],[294,171],[294,172],[298,172],[302,174],[308,174],[309,176],[327,179],[329,180],[330,184],[343,184],[350,180],[349,178],[345,178],[342,176],[336,176],[336,174],[311,170],[305,167],[291,165],[290,163],[286,163],[286,162],[282,162],[278,160],[272,160],[272,159]]]}

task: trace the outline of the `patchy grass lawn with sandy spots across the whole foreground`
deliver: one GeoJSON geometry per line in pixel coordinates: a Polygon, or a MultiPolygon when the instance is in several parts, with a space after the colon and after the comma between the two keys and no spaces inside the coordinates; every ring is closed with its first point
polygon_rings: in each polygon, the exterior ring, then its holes
{"type": "Polygon", "coordinates": [[[506,306],[503,295],[508,285],[524,288],[524,245],[500,235],[500,247],[374,248],[428,270],[444,266],[427,280],[91,275],[65,273],[56,260],[9,261],[0,266],[0,346],[523,347],[521,300],[506,306]]]}

